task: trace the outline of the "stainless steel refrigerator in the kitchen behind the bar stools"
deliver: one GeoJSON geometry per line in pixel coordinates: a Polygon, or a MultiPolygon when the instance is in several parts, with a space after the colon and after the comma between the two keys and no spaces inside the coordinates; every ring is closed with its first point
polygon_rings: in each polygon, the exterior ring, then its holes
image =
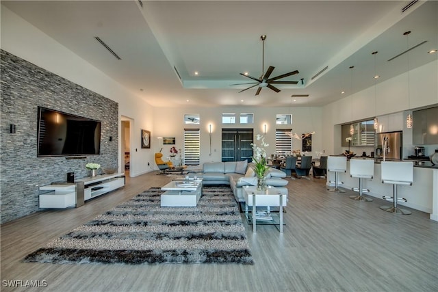
{"type": "Polygon", "coordinates": [[[386,132],[376,134],[376,158],[383,158],[383,142],[387,137],[387,152],[386,159],[398,159],[401,160],[403,150],[403,132],[386,132]]]}

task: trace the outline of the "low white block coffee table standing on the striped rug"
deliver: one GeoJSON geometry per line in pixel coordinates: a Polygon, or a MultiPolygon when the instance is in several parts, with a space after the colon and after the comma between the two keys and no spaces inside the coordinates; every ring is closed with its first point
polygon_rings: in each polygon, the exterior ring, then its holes
{"type": "Polygon", "coordinates": [[[203,180],[171,181],[162,190],[162,207],[196,207],[202,195],[203,180]]]}

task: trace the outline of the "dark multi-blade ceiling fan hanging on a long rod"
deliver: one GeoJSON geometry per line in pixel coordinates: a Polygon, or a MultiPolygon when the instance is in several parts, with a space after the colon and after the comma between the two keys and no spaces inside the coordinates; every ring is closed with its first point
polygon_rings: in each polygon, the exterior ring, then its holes
{"type": "Polygon", "coordinates": [[[282,78],[285,78],[285,77],[288,77],[291,75],[296,75],[299,73],[298,70],[295,70],[295,71],[292,71],[289,73],[285,73],[283,75],[279,75],[276,77],[269,78],[270,75],[272,74],[272,71],[275,68],[275,67],[269,66],[268,70],[266,70],[266,73],[263,75],[263,72],[265,71],[265,40],[266,40],[266,35],[263,34],[262,36],[260,36],[260,40],[263,43],[263,52],[262,52],[262,59],[261,59],[261,77],[255,78],[255,77],[252,77],[250,75],[240,73],[240,75],[243,75],[245,77],[253,79],[254,81],[257,81],[257,82],[239,83],[239,84],[231,84],[231,85],[254,84],[248,88],[245,88],[244,90],[240,90],[240,92],[244,92],[245,90],[248,90],[250,88],[258,86],[259,88],[257,88],[257,92],[255,92],[255,95],[259,95],[261,88],[266,88],[266,87],[270,88],[271,90],[274,90],[274,92],[280,92],[280,90],[278,88],[276,88],[273,84],[296,84],[296,83],[298,83],[298,81],[276,81],[278,79],[282,79],[282,78]]]}

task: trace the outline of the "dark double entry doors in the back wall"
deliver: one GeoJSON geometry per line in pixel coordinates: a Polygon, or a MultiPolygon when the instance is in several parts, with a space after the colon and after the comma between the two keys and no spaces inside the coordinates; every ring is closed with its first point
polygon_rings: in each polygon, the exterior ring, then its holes
{"type": "Polygon", "coordinates": [[[222,129],[222,162],[250,162],[253,157],[253,129],[222,129]]]}

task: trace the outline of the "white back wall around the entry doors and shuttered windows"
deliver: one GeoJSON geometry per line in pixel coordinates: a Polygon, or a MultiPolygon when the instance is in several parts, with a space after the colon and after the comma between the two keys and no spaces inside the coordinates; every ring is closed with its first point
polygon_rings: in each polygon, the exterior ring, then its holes
{"type": "MultiPolygon", "coordinates": [[[[197,108],[190,109],[166,108],[163,111],[154,112],[155,123],[151,148],[159,152],[163,147],[164,157],[170,154],[171,145],[161,146],[157,137],[175,137],[176,148],[183,148],[184,128],[201,129],[201,163],[206,161],[221,161],[221,140],[222,128],[250,128],[254,129],[255,135],[263,134],[264,127],[267,125],[266,142],[270,144],[267,148],[268,154],[275,153],[275,131],[276,129],[290,129],[298,135],[315,131],[312,136],[312,152],[325,150],[322,143],[322,109],[320,107],[229,107],[229,108],[197,108]],[[222,124],[222,113],[235,113],[236,117],[240,113],[254,114],[253,124],[222,124]],[[184,124],[184,114],[199,114],[201,122],[198,125],[184,124]],[[276,114],[292,114],[291,125],[276,125],[276,114]],[[212,125],[211,134],[211,156],[209,155],[209,124],[212,125]]],[[[237,118],[238,120],[238,118],[237,118]]],[[[301,140],[294,139],[294,149],[302,149],[301,140]]]]}

